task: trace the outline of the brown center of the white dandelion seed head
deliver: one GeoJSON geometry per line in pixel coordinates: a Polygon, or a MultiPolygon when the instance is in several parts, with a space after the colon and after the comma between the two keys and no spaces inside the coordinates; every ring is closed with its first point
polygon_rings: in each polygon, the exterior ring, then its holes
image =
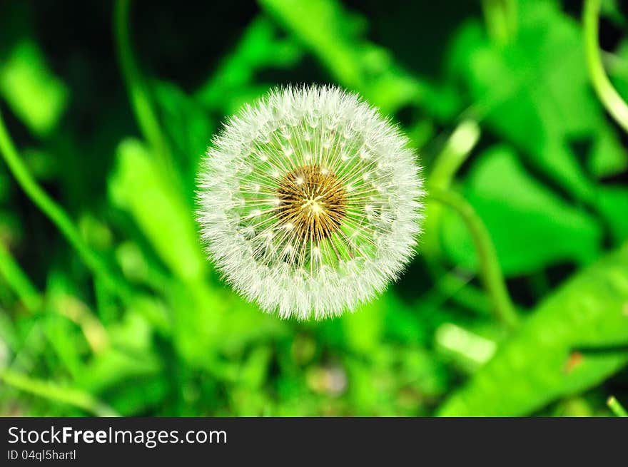
{"type": "Polygon", "coordinates": [[[303,165],[279,183],[278,216],[302,240],[320,242],[340,229],[347,212],[343,184],[320,165],[303,165]]]}

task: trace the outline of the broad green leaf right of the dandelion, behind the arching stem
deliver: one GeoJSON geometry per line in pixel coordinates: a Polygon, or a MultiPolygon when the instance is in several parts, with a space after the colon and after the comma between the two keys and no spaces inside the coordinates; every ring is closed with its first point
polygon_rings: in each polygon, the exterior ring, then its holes
{"type": "MultiPolygon", "coordinates": [[[[505,274],[597,257],[602,232],[594,218],[528,175],[507,146],[495,146],[477,158],[464,192],[485,222],[505,274]]],[[[447,210],[442,222],[442,240],[452,262],[477,270],[475,248],[462,220],[447,210]]]]}

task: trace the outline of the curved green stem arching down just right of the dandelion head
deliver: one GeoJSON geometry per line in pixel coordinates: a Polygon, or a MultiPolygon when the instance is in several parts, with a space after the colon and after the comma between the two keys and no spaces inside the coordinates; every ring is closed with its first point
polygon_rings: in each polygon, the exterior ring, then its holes
{"type": "Polygon", "coordinates": [[[467,225],[477,251],[480,274],[485,284],[497,318],[515,328],[519,324],[519,316],[512,304],[500,263],[497,260],[495,247],[486,227],[471,205],[460,195],[452,191],[439,189],[430,190],[432,200],[441,202],[455,210],[467,225]]]}

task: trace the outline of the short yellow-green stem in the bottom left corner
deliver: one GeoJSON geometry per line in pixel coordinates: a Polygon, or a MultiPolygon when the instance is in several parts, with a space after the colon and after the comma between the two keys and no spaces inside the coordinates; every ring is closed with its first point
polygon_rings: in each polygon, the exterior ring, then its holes
{"type": "Polygon", "coordinates": [[[95,416],[119,416],[110,406],[79,389],[59,386],[50,381],[33,379],[10,369],[0,369],[0,381],[21,391],[30,392],[51,401],[69,404],[95,416]]]}

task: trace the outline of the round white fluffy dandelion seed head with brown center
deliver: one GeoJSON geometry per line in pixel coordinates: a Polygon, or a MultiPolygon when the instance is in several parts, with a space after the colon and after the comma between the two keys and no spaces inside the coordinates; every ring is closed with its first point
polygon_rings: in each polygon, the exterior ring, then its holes
{"type": "Polygon", "coordinates": [[[412,257],[422,180],[407,138],[339,88],[271,91],[208,150],[198,221],[208,255],[280,317],[355,309],[412,257]]]}

